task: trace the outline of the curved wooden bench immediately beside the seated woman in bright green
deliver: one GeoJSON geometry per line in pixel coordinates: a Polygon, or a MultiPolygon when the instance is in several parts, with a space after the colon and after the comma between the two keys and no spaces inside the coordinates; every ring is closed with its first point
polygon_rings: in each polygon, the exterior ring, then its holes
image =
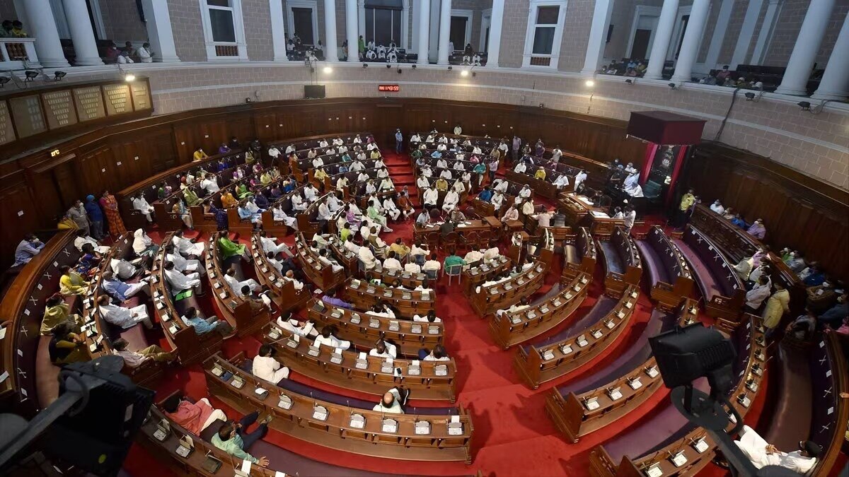
{"type": "Polygon", "coordinates": [[[218,311],[223,319],[230,323],[236,334],[246,336],[253,334],[263,325],[268,323],[268,310],[262,307],[256,313],[250,309],[250,303],[245,298],[233,293],[227,282],[224,281],[224,272],[229,265],[236,266],[236,279],[245,279],[242,273],[242,259],[240,255],[231,257],[228,261],[222,261],[218,252],[218,238],[220,233],[213,233],[206,247],[206,276],[210,282],[210,292],[215,295],[218,311]]]}

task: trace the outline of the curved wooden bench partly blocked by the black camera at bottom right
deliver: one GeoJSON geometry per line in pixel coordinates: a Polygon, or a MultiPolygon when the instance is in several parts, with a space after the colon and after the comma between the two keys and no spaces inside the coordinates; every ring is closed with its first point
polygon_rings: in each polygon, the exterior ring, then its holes
{"type": "MultiPolygon", "coordinates": [[[[766,369],[766,348],[760,344],[763,340],[763,331],[756,324],[760,323],[760,318],[753,315],[746,315],[746,317],[748,318],[746,326],[741,327],[735,334],[739,351],[734,374],[738,381],[729,395],[729,401],[741,418],[745,418],[748,407],[741,404],[739,396],[745,396],[749,402],[755,401],[766,369]]],[[[705,380],[701,379],[696,387],[706,389],[706,385],[705,380]]],[[[669,425],[666,424],[666,427],[668,428],[669,425]]],[[[734,424],[729,422],[726,430],[733,427],[734,424]]],[[[649,469],[658,469],[664,476],[693,476],[711,463],[717,448],[716,442],[704,429],[689,424],[689,421],[672,406],[656,413],[648,422],[641,423],[628,432],[618,435],[617,441],[626,441],[632,447],[638,446],[644,450],[641,452],[642,456],[631,458],[627,457],[627,454],[631,452],[617,452],[617,455],[622,453],[622,456],[621,461],[616,463],[617,457],[612,457],[604,446],[597,446],[590,452],[590,474],[594,477],[633,477],[648,473],[649,469]],[[665,416],[674,417],[676,423],[681,423],[680,429],[672,435],[668,432],[662,433],[661,439],[665,439],[661,442],[656,441],[658,436],[655,430],[648,430],[647,438],[639,435],[644,429],[656,427],[654,421],[665,416]],[[677,458],[679,462],[672,463],[672,457],[677,458]]],[[[610,443],[607,446],[610,447],[610,443]]]]}

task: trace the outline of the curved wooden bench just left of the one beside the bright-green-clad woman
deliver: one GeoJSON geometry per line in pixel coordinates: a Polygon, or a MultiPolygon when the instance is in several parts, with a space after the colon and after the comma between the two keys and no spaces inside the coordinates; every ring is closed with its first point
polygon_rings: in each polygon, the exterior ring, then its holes
{"type": "MultiPolygon", "coordinates": [[[[196,362],[202,362],[209,356],[221,351],[223,338],[216,331],[205,334],[197,334],[194,328],[183,323],[183,314],[189,307],[198,311],[198,316],[205,317],[203,307],[198,303],[194,294],[174,303],[171,299],[171,287],[165,277],[165,269],[162,265],[165,261],[165,244],[170,244],[174,233],[169,233],[162,239],[163,246],[160,253],[154,258],[150,274],[150,289],[154,299],[154,313],[162,323],[165,338],[171,347],[177,351],[177,356],[183,366],[196,362]],[[179,308],[177,307],[179,305],[179,308]]],[[[207,244],[210,245],[210,244],[207,244]]],[[[214,246],[214,244],[212,244],[214,246]]],[[[225,283],[226,284],[226,283],[225,283]]]]}

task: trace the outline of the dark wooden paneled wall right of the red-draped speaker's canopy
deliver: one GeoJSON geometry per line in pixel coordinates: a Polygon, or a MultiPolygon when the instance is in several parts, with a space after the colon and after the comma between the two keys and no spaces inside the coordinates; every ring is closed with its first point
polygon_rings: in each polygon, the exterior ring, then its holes
{"type": "Polygon", "coordinates": [[[704,143],[685,166],[683,182],[702,202],[719,199],[746,222],[762,218],[774,251],[801,250],[826,272],[849,279],[849,193],[773,160],[722,143],[704,143]]]}

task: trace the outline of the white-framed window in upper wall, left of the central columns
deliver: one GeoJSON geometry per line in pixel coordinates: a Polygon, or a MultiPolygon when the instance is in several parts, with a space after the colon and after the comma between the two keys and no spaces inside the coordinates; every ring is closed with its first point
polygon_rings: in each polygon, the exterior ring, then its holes
{"type": "Polygon", "coordinates": [[[242,0],[200,0],[200,12],[207,59],[247,60],[242,0]]]}

